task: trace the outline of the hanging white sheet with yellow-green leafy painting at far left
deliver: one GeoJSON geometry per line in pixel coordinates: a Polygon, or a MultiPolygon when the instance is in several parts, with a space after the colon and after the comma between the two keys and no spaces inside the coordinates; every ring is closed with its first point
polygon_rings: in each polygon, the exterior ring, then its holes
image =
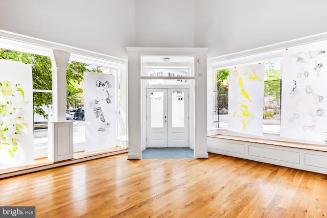
{"type": "Polygon", "coordinates": [[[34,163],[30,64],[0,59],[0,169],[34,163]]]}

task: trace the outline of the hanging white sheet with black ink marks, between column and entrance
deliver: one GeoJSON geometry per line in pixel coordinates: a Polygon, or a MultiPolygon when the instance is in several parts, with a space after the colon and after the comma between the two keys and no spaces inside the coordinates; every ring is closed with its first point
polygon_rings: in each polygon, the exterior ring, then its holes
{"type": "Polygon", "coordinates": [[[84,72],[85,152],[116,146],[114,76],[84,72]]]}

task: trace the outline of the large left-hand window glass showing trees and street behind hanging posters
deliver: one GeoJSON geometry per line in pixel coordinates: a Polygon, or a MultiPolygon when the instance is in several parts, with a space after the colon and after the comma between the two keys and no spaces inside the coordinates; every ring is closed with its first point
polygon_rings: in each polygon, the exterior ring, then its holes
{"type": "MultiPolygon", "coordinates": [[[[52,64],[50,57],[0,49],[0,59],[19,61],[32,65],[33,109],[34,109],[34,147],[35,156],[48,155],[48,122],[52,119],[52,64]]],[[[66,70],[66,119],[74,120],[74,151],[83,151],[85,142],[84,126],[84,71],[101,72],[115,76],[117,108],[121,108],[120,69],[112,69],[91,64],[69,62],[66,70]],[[76,113],[77,112],[77,113],[76,113]],[[76,114],[75,114],[76,113],[76,114]]],[[[120,117],[120,113],[118,114],[120,117]]],[[[117,134],[122,134],[121,120],[117,120],[117,134]],[[118,128],[119,127],[119,128],[118,128]]]]}

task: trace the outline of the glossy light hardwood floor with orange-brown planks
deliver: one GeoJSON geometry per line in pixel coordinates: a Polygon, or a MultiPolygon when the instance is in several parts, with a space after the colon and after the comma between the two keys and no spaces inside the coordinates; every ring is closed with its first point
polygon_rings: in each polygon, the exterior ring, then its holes
{"type": "Polygon", "coordinates": [[[326,179],[211,153],[121,154],[0,180],[0,206],[36,206],[36,217],[324,217],[326,179]]]}

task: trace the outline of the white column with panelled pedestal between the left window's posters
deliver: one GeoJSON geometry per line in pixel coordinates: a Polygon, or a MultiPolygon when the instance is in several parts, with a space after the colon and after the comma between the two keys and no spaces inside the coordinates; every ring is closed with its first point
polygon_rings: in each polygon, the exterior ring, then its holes
{"type": "Polygon", "coordinates": [[[66,120],[66,69],[70,56],[68,52],[53,50],[53,118],[48,125],[48,158],[53,162],[74,158],[73,122],[66,120]]]}

